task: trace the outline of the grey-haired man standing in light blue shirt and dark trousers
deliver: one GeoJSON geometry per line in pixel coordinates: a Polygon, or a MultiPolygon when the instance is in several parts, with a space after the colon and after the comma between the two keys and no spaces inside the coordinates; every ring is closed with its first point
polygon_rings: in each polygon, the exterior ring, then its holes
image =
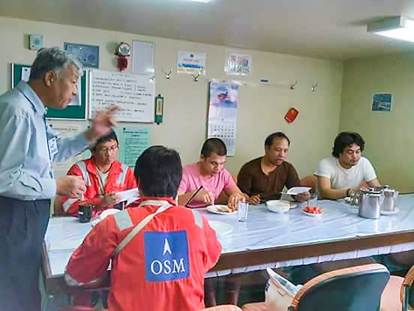
{"type": "Polygon", "coordinates": [[[110,132],[116,107],[95,114],[90,129],[61,138],[46,121],[48,108],[63,109],[77,95],[82,66],[59,48],[40,50],[28,83],[0,96],[0,308],[38,311],[41,243],[56,194],[77,198],[77,176],[55,180],[52,162],[76,156],[110,132]]]}

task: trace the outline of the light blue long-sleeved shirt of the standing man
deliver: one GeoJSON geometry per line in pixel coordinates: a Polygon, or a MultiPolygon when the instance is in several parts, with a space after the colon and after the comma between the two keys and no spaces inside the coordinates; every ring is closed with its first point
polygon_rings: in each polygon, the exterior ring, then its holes
{"type": "Polygon", "coordinates": [[[62,138],[53,131],[46,112],[25,82],[0,96],[0,196],[53,198],[57,185],[52,161],[66,160],[88,148],[84,133],[62,138]]]}

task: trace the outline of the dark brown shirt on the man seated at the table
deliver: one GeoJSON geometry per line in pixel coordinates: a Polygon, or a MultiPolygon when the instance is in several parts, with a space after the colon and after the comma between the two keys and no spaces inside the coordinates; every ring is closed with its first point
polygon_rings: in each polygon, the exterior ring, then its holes
{"type": "Polygon", "coordinates": [[[247,162],[237,175],[237,186],[245,194],[260,194],[264,200],[275,200],[280,198],[285,186],[289,189],[300,185],[296,169],[289,162],[283,162],[266,175],[261,161],[262,157],[247,162]]]}

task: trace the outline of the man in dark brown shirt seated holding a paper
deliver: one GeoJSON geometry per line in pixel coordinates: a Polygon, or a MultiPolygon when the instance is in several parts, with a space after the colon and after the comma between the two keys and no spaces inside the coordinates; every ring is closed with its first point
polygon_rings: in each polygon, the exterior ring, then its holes
{"type": "MultiPolygon", "coordinates": [[[[250,196],[250,204],[279,199],[285,186],[288,189],[299,187],[295,167],[285,161],[289,146],[290,140],[284,133],[270,134],[264,142],[264,156],[250,160],[240,169],[237,186],[250,196]]],[[[308,197],[309,193],[306,192],[294,198],[303,202],[308,197]]]]}

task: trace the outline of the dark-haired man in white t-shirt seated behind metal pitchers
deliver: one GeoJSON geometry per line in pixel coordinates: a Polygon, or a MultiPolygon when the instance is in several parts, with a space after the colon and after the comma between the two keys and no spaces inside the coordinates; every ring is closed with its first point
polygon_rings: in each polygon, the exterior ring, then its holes
{"type": "Polygon", "coordinates": [[[365,142],[361,135],[342,132],[333,144],[332,156],[317,166],[317,189],[324,199],[337,200],[358,192],[362,182],[379,187],[375,170],[367,158],[361,156],[365,142]]]}

